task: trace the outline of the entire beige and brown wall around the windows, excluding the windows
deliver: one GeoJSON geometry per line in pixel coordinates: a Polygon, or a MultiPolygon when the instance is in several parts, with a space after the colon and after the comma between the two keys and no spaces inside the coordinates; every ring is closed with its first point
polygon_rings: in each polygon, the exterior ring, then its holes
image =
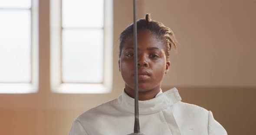
{"type": "MultiPolygon", "coordinates": [[[[121,93],[118,35],[132,23],[132,0],[114,0],[113,90],[59,94],[49,84],[49,0],[39,1],[39,93],[0,94],[0,135],[67,135],[80,113],[121,93]]],[[[138,17],[171,27],[179,41],[163,90],[213,112],[229,135],[253,135],[256,122],[255,0],[138,0],[138,17]]]]}

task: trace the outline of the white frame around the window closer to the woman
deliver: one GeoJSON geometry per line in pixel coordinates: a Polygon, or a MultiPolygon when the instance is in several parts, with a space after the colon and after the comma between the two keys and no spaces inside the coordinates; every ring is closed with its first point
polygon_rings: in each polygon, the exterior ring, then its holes
{"type": "Polygon", "coordinates": [[[54,93],[109,93],[112,89],[113,2],[104,0],[103,81],[62,82],[62,0],[50,0],[50,87],[54,93]]]}

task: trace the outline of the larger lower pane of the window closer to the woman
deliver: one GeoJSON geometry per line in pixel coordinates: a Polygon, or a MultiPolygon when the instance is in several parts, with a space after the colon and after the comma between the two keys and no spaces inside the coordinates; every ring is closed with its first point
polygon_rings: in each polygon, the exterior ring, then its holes
{"type": "Polygon", "coordinates": [[[101,83],[103,78],[103,30],[64,29],[62,33],[62,81],[101,83]]]}

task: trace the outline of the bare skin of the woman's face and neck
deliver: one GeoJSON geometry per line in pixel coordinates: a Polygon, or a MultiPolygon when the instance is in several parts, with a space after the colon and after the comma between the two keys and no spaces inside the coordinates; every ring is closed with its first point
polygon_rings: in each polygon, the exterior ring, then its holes
{"type": "MultiPolygon", "coordinates": [[[[165,45],[149,30],[138,31],[138,91],[139,100],[153,99],[161,88],[170,61],[165,55],[165,45]]],[[[123,45],[119,58],[119,71],[125,81],[125,93],[134,98],[133,37],[123,45]]]]}

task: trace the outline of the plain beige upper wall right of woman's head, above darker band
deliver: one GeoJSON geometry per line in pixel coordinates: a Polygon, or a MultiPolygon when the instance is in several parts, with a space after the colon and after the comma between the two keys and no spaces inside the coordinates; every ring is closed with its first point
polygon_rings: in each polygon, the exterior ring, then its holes
{"type": "Polygon", "coordinates": [[[142,0],[180,43],[163,85],[256,87],[256,1],[142,0]]]}

